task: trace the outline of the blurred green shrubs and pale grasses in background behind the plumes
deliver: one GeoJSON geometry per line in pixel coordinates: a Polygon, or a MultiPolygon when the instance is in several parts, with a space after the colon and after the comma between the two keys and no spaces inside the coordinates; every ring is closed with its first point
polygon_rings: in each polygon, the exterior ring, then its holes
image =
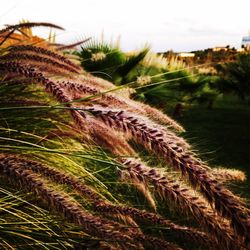
{"type": "Polygon", "coordinates": [[[218,96],[210,84],[212,76],[192,76],[193,71],[176,56],[166,59],[148,48],[125,54],[118,45],[97,41],[85,43],[77,54],[85,70],[116,85],[128,84],[135,90],[134,99],[158,108],[193,102],[212,107],[218,96]]]}

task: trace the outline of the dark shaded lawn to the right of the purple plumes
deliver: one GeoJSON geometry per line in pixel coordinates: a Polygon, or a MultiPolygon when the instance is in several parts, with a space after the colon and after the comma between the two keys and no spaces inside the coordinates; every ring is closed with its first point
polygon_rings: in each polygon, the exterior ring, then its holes
{"type": "Polygon", "coordinates": [[[194,106],[186,109],[178,120],[187,131],[183,136],[210,166],[236,168],[246,173],[247,181],[232,187],[248,197],[250,204],[250,105],[224,97],[213,110],[194,106]]]}

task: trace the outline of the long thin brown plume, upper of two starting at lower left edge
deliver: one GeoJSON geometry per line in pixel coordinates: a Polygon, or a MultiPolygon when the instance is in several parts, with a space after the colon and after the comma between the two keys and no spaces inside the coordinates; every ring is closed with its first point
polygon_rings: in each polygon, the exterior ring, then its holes
{"type": "Polygon", "coordinates": [[[176,225],[155,213],[142,211],[137,208],[128,206],[111,204],[108,201],[105,201],[105,199],[100,194],[96,193],[92,188],[85,185],[82,181],[79,181],[75,177],[70,176],[69,174],[65,174],[62,171],[53,169],[36,161],[20,158],[19,156],[1,154],[0,160],[3,158],[7,162],[15,162],[16,165],[22,167],[23,169],[30,169],[35,173],[42,174],[43,176],[53,180],[58,184],[65,184],[70,186],[79,194],[87,197],[94,204],[95,209],[101,213],[131,216],[136,220],[139,219],[141,221],[148,221],[154,225],[158,224],[169,228],[170,230],[181,235],[183,238],[190,238],[191,240],[199,243],[200,245],[204,245],[209,249],[218,247],[217,245],[215,245],[215,242],[213,242],[212,239],[209,238],[205,233],[200,232],[196,229],[176,225]]]}

